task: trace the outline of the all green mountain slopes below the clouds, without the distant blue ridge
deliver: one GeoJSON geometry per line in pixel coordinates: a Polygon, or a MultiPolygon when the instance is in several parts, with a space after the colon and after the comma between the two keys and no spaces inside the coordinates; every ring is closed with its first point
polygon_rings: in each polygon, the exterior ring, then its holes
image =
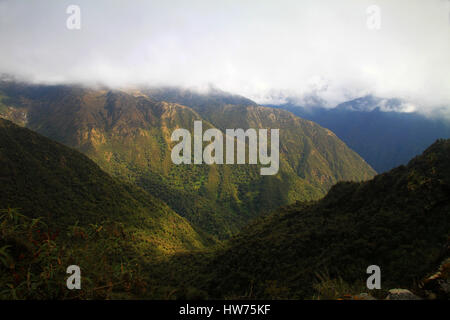
{"type": "Polygon", "coordinates": [[[380,297],[449,281],[450,140],[375,175],[329,129],[221,91],[0,88],[1,298],[340,298],[370,265],[380,297]],[[172,164],[194,120],[279,128],[279,173],[172,164]]]}

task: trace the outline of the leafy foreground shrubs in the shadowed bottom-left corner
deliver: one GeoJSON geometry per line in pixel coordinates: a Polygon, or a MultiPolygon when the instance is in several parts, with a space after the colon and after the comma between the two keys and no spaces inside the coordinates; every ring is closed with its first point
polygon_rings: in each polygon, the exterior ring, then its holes
{"type": "MultiPolygon", "coordinates": [[[[0,212],[0,299],[108,299],[149,294],[134,236],[117,222],[50,227],[17,209],[0,212]],[[62,230],[62,233],[60,233],[62,230]],[[82,270],[82,290],[68,290],[66,269],[82,270]]],[[[151,293],[150,293],[151,294],[151,293]]]]}

